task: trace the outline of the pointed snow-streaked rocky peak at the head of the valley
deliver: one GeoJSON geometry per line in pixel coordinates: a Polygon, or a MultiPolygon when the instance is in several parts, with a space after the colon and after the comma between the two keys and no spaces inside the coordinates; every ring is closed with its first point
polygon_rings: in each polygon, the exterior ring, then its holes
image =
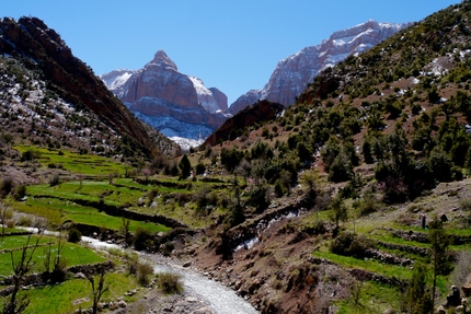
{"type": "Polygon", "coordinates": [[[169,138],[205,139],[227,118],[227,96],[179,72],[163,50],[140,70],[114,70],[100,78],[138,118],[169,138]]]}

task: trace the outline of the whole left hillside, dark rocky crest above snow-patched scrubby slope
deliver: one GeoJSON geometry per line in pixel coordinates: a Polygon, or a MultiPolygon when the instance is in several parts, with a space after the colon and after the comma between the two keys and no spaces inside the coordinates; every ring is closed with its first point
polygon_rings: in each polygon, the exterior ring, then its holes
{"type": "MultiPolygon", "coordinates": [[[[118,147],[116,139],[123,137],[129,141],[131,150],[138,149],[148,156],[154,149],[170,155],[179,151],[163,136],[140,123],[43,21],[36,18],[21,18],[19,21],[5,18],[0,21],[0,35],[2,73],[5,78],[2,80],[2,117],[5,124],[9,123],[9,115],[16,117],[13,120],[15,128],[13,125],[9,128],[11,131],[22,128],[24,133],[34,133],[34,128],[41,128],[41,133],[44,129],[41,126],[53,121],[46,133],[49,132],[49,141],[54,140],[55,147],[60,146],[59,139],[65,136],[64,144],[82,149],[93,149],[100,141],[99,151],[110,151],[107,147],[113,141],[113,151],[118,147]],[[82,119],[80,123],[79,116],[82,119]],[[30,126],[22,125],[22,121],[27,121],[30,126]],[[102,136],[88,138],[101,132],[113,138],[104,141],[102,136]],[[73,139],[68,140],[68,133],[73,139]],[[78,137],[85,139],[80,141],[78,137]]],[[[36,137],[36,141],[44,141],[45,138],[41,140],[36,137]]],[[[34,140],[34,137],[31,139],[34,140]]],[[[122,152],[118,149],[114,153],[122,152]]]]}

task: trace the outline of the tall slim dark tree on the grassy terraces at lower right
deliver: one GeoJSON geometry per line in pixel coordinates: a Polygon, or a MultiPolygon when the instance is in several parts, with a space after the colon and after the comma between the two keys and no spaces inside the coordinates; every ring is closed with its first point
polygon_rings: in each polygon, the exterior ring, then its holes
{"type": "MultiPolygon", "coordinates": [[[[433,289],[432,289],[432,305],[435,305],[435,292],[437,288],[438,275],[445,275],[451,270],[450,255],[448,253],[448,246],[451,244],[447,232],[444,230],[444,223],[438,217],[428,224],[430,232],[428,233],[428,241],[430,242],[430,259],[433,274],[433,289]]],[[[432,312],[433,313],[433,309],[432,312]]]]}

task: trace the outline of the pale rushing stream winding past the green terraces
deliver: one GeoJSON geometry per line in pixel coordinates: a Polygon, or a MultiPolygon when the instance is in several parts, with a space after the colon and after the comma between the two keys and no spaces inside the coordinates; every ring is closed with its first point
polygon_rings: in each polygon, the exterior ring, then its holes
{"type": "MultiPolygon", "coordinates": [[[[37,229],[27,229],[37,232],[37,229]]],[[[46,232],[57,234],[57,232],[46,232]]],[[[93,237],[82,236],[82,242],[100,248],[119,248],[117,244],[99,241],[93,237]]],[[[182,266],[170,263],[158,254],[140,254],[140,257],[150,261],[156,272],[173,272],[181,276],[185,293],[196,295],[209,304],[215,314],[252,314],[259,313],[249,302],[238,296],[236,292],[219,282],[210,280],[205,276],[182,266]]]]}

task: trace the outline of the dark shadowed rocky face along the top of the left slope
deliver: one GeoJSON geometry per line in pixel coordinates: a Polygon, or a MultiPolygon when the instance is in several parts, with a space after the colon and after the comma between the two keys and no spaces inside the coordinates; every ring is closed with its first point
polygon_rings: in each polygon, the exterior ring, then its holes
{"type": "Polygon", "coordinates": [[[158,132],[139,121],[94,75],[92,69],[72,55],[62,38],[37,18],[0,20],[0,54],[28,60],[42,71],[50,88],[78,111],[87,108],[115,131],[134,140],[148,154],[159,141],[174,151],[158,132]]]}

